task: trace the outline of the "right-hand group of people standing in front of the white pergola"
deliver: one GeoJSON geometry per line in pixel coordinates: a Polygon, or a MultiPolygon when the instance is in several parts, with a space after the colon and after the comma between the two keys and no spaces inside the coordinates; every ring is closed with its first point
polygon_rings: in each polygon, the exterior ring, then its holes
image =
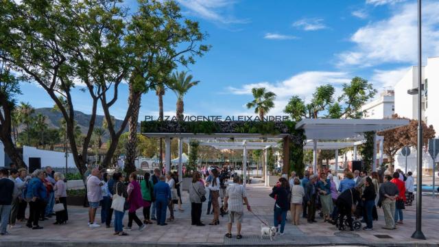
{"type": "Polygon", "coordinates": [[[334,224],[340,231],[347,224],[354,231],[353,220],[366,224],[365,231],[373,229],[373,221],[378,220],[377,207],[383,209],[385,229],[394,230],[403,223],[403,209],[412,205],[414,199],[414,178],[412,172],[403,174],[396,169],[392,174],[384,174],[381,179],[377,172],[368,176],[366,171],[345,169],[343,180],[331,171],[310,174],[299,179],[292,172],[279,179],[270,196],[274,204],[274,226],[283,235],[287,212],[291,212],[291,222],[300,224],[300,213],[309,224],[316,223],[316,211],[320,209],[323,222],[334,224]]]}

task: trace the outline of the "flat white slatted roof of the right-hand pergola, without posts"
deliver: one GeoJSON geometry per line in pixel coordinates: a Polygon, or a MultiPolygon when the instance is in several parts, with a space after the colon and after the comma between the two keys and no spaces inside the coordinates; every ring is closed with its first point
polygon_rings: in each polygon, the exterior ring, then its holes
{"type": "Polygon", "coordinates": [[[364,132],[391,130],[409,124],[409,119],[303,119],[296,130],[305,130],[307,139],[344,140],[363,138],[364,132]]]}

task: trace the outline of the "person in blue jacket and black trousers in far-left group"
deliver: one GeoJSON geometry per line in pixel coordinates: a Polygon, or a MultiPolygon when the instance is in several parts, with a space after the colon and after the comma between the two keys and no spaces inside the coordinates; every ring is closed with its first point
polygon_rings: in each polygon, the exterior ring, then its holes
{"type": "Polygon", "coordinates": [[[32,173],[32,179],[27,184],[25,193],[26,199],[29,201],[29,219],[26,226],[34,230],[43,229],[38,225],[40,212],[43,210],[44,201],[47,198],[47,189],[41,181],[44,178],[43,170],[36,169],[32,173]]]}

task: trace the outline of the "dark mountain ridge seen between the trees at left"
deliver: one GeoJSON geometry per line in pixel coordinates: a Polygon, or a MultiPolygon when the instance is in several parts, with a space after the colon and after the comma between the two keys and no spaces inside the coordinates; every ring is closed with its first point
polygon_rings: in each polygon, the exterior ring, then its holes
{"type": "MultiPolygon", "coordinates": [[[[59,111],[53,110],[53,108],[36,108],[35,115],[41,113],[47,117],[47,125],[49,128],[60,128],[60,121],[63,119],[62,114],[59,111]]],[[[86,134],[88,130],[88,124],[90,123],[91,115],[75,110],[75,121],[80,126],[82,134],[86,134]]],[[[102,127],[104,116],[96,115],[95,127],[102,127]]],[[[122,120],[116,119],[115,131],[119,130],[122,125],[122,120]]],[[[139,125],[140,126],[140,125],[139,125]]],[[[139,127],[138,127],[139,130],[139,127]]],[[[128,124],[123,132],[128,132],[128,124]]],[[[104,141],[108,139],[108,134],[104,136],[104,141]]]]}

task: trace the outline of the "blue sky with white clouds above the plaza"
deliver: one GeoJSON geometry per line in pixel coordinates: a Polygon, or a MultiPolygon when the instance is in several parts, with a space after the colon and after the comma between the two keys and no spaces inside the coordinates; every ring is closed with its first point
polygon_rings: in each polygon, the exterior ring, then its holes
{"type": "MultiPolygon", "coordinates": [[[[200,84],[185,96],[187,115],[254,115],[246,108],[253,87],[276,93],[268,115],[283,115],[292,95],[309,100],[316,86],[355,76],[375,89],[392,89],[417,64],[416,0],[177,0],[187,18],[198,21],[212,46],[188,68],[200,84]]],[[[134,0],[125,2],[132,10],[134,0]]],[[[439,1],[423,1],[423,62],[439,56],[439,1]]],[[[35,108],[54,105],[43,89],[22,84],[19,101],[35,108]]],[[[77,87],[75,110],[91,113],[91,101],[77,87]]],[[[110,113],[123,119],[128,86],[123,84],[110,113]]],[[[176,95],[164,96],[165,115],[175,115],[176,95]]],[[[98,109],[102,115],[102,109],[98,109]]],[[[142,97],[139,119],[158,115],[151,91],[142,97]]]]}

